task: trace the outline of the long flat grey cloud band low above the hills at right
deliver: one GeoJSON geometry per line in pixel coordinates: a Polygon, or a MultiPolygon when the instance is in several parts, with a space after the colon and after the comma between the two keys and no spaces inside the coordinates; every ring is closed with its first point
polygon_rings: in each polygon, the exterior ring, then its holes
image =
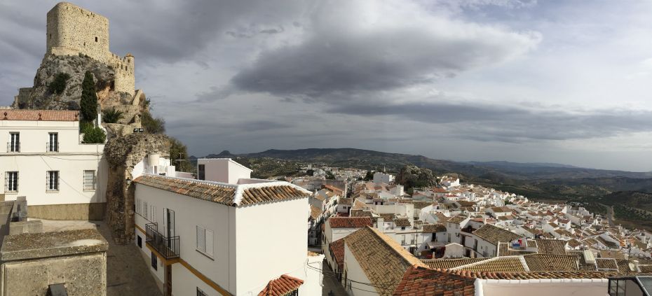
{"type": "MultiPolygon", "coordinates": [[[[393,116],[440,125],[462,139],[518,143],[528,140],[589,139],[652,132],[652,111],[529,109],[473,102],[339,104],[330,112],[393,116]]],[[[424,127],[424,129],[427,127],[424,127]]]]}

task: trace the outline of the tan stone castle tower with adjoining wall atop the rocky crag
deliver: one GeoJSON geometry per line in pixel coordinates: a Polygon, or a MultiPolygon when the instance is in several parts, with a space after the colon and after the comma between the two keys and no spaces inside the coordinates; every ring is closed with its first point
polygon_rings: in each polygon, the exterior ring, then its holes
{"type": "Polygon", "coordinates": [[[48,12],[46,40],[46,55],[88,55],[116,71],[116,92],[134,95],[134,57],[129,53],[120,57],[109,50],[107,17],[71,3],[58,3],[48,12]]]}

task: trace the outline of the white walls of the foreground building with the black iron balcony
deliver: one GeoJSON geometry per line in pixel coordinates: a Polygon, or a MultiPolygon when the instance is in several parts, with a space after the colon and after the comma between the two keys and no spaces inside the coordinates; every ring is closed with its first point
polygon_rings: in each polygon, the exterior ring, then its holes
{"type": "MultiPolygon", "coordinates": [[[[240,180],[240,183],[253,181],[240,180]]],[[[280,183],[284,182],[264,184],[280,183]]],[[[321,287],[320,282],[311,279],[320,279],[320,272],[306,265],[314,261],[311,266],[320,268],[316,263],[320,259],[308,260],[307,255],[308,195],[306,192],[305,198],[226,206],[137,184],[135,234],[142,241],[142,251],[150,258],[151,251],[142,233],[146,224],[158,223],[159,232],[167,237],[179,237],[179,258],[185,264],[171,265],[172,295],[195,295],[197,288],[208,295],[220,295],[191,269],[233,295],[257,295],[269,281],[282,274],[304,280],[299,295],[314,295],[321,287]],[[174,212],[173,231],[166,226],[168,209],[174,212]],[[205,237],[205,251],[198,250],[198,230],[205,237]]],[[[150,269],[164,282],[163,268],[150,269]]]]}

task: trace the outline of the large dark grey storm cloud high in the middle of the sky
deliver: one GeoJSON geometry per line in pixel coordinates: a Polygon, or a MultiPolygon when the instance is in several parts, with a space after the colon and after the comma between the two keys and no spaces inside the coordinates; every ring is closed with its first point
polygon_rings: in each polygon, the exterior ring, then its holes
{"type": "Polygon", "coordinates": [[[331,7],[316,8],[311,36],[298,44],[262,52],[233,77],[233,84],[241,90],[312,98],[391,90],[501,62],[527,52],[540,39],[537,34],[443,17],[407,20],[390,14],[386,15],[388,22],[395,25],[369,27],[350,11],[344,16],[338,13],[331,7]],[[454,31],[463,34],[451,34],[454,31]]]}

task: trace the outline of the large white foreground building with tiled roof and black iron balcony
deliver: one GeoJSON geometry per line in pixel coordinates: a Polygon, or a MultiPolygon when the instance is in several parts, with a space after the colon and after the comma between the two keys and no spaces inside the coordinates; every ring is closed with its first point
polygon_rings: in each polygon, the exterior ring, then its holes
{"type": "Polygon", "coordinates": [[[229,172],[215,176],[236,183],[134,179],[135,244],[159,283],[171,295],[257,295],[278,286],[290,287],[281,295],[320,294],[323,256],[309,256],[306,245],[311,192],[222,169],[229,172]]]}

